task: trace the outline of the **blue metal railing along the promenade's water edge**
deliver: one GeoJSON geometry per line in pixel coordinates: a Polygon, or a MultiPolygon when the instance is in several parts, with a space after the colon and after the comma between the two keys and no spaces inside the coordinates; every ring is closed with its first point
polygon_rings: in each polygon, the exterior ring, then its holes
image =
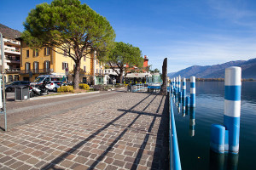
{"type": "Polygon", "coordinates": [[[174,119],[171,92],[169,93],[169,111],[170,111],[170,127],[169,127],[170,169],[181,170],[182,168],[181,168],[179,150],[178,150],[178,144],[177,144],[177,133],[176,133],[176,125],[175,125],[175,119],[174,119]]]}

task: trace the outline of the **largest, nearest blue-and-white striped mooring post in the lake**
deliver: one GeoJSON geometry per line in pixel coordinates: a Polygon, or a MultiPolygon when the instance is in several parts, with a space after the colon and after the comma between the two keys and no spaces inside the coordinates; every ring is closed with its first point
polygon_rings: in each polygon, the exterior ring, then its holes
{"type": "Polygon", "coordinates": [[[225,70],[224,127],[229,131],[229,151],[238,153],[241,116],[241,67],[225,70]]]}

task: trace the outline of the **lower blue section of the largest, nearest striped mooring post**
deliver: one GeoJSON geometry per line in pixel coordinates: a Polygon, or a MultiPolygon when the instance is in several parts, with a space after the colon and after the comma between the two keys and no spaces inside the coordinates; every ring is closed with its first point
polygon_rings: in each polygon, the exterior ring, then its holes
{"type": "Polygon", "coordinates": [[[229,130],[229,151],[238,153],[239,134],[240,134],[240,116],[232,117],[224,115],[224,126],[229,130]]]}

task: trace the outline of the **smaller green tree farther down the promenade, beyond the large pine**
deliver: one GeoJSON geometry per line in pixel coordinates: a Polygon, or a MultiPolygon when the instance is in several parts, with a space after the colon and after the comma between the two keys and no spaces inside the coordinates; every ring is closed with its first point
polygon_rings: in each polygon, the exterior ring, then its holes
{"type": "Polygon", "coordinates": [[[108,55],[108,65],[118,74],[120,82],[122,82],[123,73],[127,69],[125,65],[129,65],[129,67],[136,65],[139,68],[143,66],[142,52],[140,48],[133,47],[129,43],[115,42],[114,48],[108,55]],[[120,71],[117,71],[115,66],[120,71]]]}

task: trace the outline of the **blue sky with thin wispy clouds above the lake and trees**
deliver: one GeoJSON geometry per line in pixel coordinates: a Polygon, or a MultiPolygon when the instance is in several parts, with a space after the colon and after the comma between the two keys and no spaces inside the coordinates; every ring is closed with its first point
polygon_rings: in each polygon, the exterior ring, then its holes
{"type": "MultiPolygon", "coordinates": [[[[38,3],[0,1],[0,23],[23,31],[22,23],[38,3]]],[[[168,72],[191,65],[216,65],[256,58],[256,2],[253,0],[82,0],[105,16],[117,42],[148,55],[152,69],[168,72]]]]}

